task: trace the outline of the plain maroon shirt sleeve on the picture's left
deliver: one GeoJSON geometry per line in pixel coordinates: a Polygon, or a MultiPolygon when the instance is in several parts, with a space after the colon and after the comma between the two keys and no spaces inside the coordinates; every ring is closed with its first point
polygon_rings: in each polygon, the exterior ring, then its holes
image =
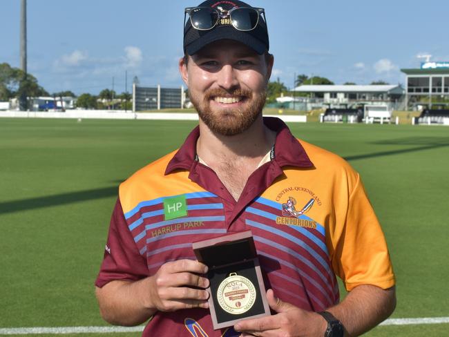
{"type": "Polygon", "coordinates": [[[146,276],[146,259],[140,254],[128,229],[119,198],[111,217],[104,258],[95,285],[101,288],[113,280],[136,281],[146,276]]]}

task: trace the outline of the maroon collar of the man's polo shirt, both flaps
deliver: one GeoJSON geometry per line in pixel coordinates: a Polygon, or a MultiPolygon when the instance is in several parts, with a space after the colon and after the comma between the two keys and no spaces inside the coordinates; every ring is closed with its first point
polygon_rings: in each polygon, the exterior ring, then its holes
{"type": "MultiPolygon", "coordinates": [[[[298,139],[292,135],[288,126],[277,117],[264,117],[264,124],[276,132],[276,143],[274,144],[274,155],[272,160],[276,160],[280,167],[296,166],[300,168],[310,168],[314,164],[311,162],[303,146],[298,139]]],[[[191,166],[196,159],[196,142],[200,137],[200,127],[196,126],[187,136],[184,144],[170,160],[166,167],[165,175],[168,175],[176,169],[185,169],[190,171],[191,166]]]]}

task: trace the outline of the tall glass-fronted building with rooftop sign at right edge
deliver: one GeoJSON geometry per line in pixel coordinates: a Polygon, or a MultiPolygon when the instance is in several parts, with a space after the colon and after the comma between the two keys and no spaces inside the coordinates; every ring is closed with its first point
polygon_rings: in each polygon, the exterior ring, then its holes
{"type": "Polygon", "coordinates": [[[405,104],[408,108],[449,108],[449,62],[426,61],[421,63],[421,68],[401,71],[406,75],[405,104]]]}

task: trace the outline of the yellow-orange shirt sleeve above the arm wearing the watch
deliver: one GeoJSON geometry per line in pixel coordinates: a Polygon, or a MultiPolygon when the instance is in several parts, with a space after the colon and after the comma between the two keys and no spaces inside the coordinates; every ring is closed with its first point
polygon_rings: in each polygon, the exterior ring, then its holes
{"type": "Polygon", "coordinates": [[[348,291],[358,285],[394,286],[394,273],[385,236],[356,174],[345,221],[336,224],[332,238],[332,267],[348,291]]]}

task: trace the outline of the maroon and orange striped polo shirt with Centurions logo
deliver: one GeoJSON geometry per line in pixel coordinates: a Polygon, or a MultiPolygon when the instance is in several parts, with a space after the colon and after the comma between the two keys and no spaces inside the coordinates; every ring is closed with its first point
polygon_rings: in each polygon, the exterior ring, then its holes
{"type": "MultiPolygon", "coordinates": [[[[192,242],[251,230],[267,289],[296,307],[321,311],[347,290],[394,285],[379,221],[359,173],[341,157],[296,139],[274,117],[271,160],[234,200],[196,155],[198,126],[177,150],[120,184],[95,284],[135,281],[166,262],[193,259],[192,242]]],[[[143,336],[238,336],[214,331],[209,309],[157,312],[143,336]]]]}

